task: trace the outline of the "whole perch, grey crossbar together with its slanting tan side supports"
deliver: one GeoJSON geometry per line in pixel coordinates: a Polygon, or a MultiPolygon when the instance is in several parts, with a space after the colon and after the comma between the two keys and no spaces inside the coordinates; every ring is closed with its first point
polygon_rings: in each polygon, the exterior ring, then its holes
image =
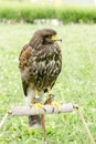
{"type": "Polygon", "coordinates": [[[75,110],[77,110],[78,116],[81,117],[81,121],[84,125],[84,128],[86,131],[87,136],[90,140],[90,144],[95,144],[94,137],[85,122],[85,119],[78,107],[78,105],[74,105],[74,104],[60,104],[60,105],[43,105],[38,107],[38,112],[36,113],[36,109],[35,106],[13,106],[10,111],[8,111],[6,113],[6,115],[3,116],[2,121],[0,122],[0,128],[3,126],[6,120],[8,119],[8,116],[11,114],[12,116],[25,116],[25,115],[35,115],[35,114],[54,114],[54,113],[71,113],[75,110]]]}

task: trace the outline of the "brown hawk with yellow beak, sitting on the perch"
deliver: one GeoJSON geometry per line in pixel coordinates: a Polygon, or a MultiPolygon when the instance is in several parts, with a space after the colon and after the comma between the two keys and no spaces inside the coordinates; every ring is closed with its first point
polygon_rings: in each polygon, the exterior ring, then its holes
{"type": "MultiPolygon", "coordinates": [[[[53,29],[36,30],[19,56],[22,86],[26,103],[41,102],[51,91],[62,68],[61,39],[53,29]]],[[[41,115],[30,115],[29,125],[41,125],[41,115]]]]}

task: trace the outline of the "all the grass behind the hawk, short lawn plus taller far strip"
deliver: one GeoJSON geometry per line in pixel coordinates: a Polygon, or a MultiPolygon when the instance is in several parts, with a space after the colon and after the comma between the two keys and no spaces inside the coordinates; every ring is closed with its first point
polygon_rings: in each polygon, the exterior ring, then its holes
{"type": "MultiPolygon", "coordinates": [[[[96,141],[95,8],[0,1],[0,120],[12,105],[24,104],[18,68],[22,47],[36,29],[53,28],[63,39],[60,43],[63,68],[53,93],[57,101],[77,103],[81,106],[96,141]],[[35,19],[57,19],[62,24],[34,24],[35,19]]],[[[46,131],[52,144],[90,144],[75,112],[46,115],[46,131]]],[[[29,130],[26,117],[9,117],[0,130],[0,144],[39,143],[43,144],[42,132],[29,130]]]]}

